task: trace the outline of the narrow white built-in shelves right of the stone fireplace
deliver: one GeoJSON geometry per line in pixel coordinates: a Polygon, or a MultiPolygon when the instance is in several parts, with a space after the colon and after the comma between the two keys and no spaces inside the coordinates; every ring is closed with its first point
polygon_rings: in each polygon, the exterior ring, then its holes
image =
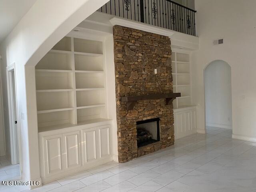
{"type": "Polygon", "coordinates": [[[190,54],[172,52],[173,92],[181,93],[181,97],[173,101],[174,109],[191,106],[190,54]]]}

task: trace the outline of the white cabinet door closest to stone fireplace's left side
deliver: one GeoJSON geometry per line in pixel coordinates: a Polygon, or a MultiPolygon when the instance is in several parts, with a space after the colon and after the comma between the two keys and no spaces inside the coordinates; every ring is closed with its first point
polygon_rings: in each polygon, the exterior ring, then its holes
{"type": "Polygon", "coordinates": [[[99,158],[110,156],[110,126],[98,127],[98,150],[99,158]]]}

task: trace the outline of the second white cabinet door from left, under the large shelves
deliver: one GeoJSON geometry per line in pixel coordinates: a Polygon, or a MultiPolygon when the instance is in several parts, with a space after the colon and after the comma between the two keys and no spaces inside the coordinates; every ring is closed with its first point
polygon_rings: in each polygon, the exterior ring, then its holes
{"type": "Polygon", "coordinates": [[[62,138],[64,168],[72,169],[81,166],[80,131],[64,133],[62,138]]]}

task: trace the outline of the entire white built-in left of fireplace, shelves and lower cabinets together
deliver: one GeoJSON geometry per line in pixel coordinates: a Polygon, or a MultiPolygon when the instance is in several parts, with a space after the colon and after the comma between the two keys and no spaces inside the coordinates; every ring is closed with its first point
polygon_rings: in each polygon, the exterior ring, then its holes
{"type": "Polygon", "coordinates": [[[42,182],[111,161],[104,41],[66,36],[35,73],[42,182]]]}

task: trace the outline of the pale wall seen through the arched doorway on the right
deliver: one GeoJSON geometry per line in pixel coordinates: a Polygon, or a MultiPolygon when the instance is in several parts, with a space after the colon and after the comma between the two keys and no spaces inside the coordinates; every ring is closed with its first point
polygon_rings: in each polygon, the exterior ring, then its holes
{"type": "Polygon", "coordinates": [[[231,68],[222,61],[211,62],[204,70],[206,125],[231,129],[231,68]]]}

